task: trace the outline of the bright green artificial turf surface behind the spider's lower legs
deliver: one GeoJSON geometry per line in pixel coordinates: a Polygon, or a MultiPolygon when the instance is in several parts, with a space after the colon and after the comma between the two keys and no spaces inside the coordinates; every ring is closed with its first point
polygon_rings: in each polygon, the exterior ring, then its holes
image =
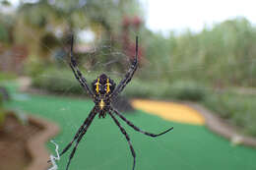
{"type": "MultiPolygon", "coordinates": [[[[87,99],[15,93],[9,107],[55,121],[61,133],[54,139],[62,149],[70,142],[94,103],[87,99]]],[[[143,111],[126,113],[135,125],[152,133],[169,127],[174,130],[157,139],[135,132],[124,122],[137,154],[136,170],[252,170],[256,169],[256,149],[232,146],[204,126],[192,126],[162,120],[143,111]]],[[[121,121],[121,120],[120,120],[121,121]]],[[[54,153],[54,145],[48,142],[54,153]]],[[[58,162],[67,164],[67,152],[58,162]]],[[[94,120],[71,162],[70,170],[131,170],[132,155],[118,127],[107,116],[94,120]]]]}

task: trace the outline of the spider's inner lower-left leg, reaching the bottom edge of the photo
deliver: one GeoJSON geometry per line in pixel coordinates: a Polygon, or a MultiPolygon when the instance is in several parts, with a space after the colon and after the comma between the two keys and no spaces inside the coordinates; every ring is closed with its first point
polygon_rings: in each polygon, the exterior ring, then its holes
{"type": "Polygon", "coordinates": [[[74,154],[75,154],[75,152],[76,152],[76,150],[77,150],[78,144],[79,144],[79,142],[83,139],[83,137],[85,136],[85,134],[87,133],[87,130],[88,130],[88,128],[90,127],[90,125],[91,125],[91,123],[93,122],[93,120],[94,120],[95,117],[96,117],[96,111],[95,111],[95,109],[94,109],[91,118],[89,119],[89,121],[88,121],[86,127],[84,127],[84,129],[82,130],[82,132],[81,132],[82,134],[79,135],[79,138],[78,138],[78,140],[77,140],[77,142],[76,142],[76,145],[74,146],[72,152],[71,152],[70,155],[69,155],[69,161],[68,161],[68,164],[67,164],[67,166],[66,166],[66,170],[69,169],[69,165],[70,165],[71,159],[73,158],[73,156],[74,156],[74,154]]]}

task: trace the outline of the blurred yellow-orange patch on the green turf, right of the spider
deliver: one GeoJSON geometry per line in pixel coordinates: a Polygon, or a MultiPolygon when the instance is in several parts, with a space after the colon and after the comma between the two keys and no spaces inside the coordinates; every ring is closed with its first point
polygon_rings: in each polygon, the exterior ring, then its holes
{"type": "Polygon", "coordinates": [[[132,105],[166,120],[193,125],[205,124],[205,119],[200,113],[184,104],[136,99],[132,101],[132,105]]]}

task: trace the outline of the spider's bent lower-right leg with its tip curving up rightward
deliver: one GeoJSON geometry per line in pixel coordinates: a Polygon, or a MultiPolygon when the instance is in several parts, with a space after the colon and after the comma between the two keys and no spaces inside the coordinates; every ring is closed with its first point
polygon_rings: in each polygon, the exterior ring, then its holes
{"type": "Polygon", "coordinates": [[[111,107],[111,110],[114,111],[114,113],[119,116],[124,122],[126,122],[130,127],[132,127],[135,131],[138,131],[142,134],[145,134],[146,136],[150,136],[150,137],[159,137],[169,131],[171,131],[173,129],[173,127],[167,129],[166,131],[163,131],[162,133],[160,134],[152,134],[152,133],[148,133],[148,132],[145,132],[145,131],[142,131],[141,129],[139,129],[138,127],[136,127],[132,122],[130,122],[129,120],[127,120],[121,113],[119,113],[116,109],[112,108],[111,107]]]}

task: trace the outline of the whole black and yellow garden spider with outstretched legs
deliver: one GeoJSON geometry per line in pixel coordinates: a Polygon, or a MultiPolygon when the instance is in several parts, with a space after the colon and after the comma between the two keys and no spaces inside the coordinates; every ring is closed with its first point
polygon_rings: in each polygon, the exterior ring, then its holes
{"type": "Polygon", "coordinates": [[[79,142],[83,139],[83,137],[87,133],[87,130],[90,127],[90,125],[92,124],[92,122],[93,122],[94,118],[96,117],[97,113],[98,113],[98,118],[104,118],[106,116],[106,113],[108,113],[110,115],[110,117],[113,119],[114,123],[118,126],[118,128],[120,129],[122,134],[125,136],[127,142],[129,143],[131,152],[132,152],[133,170],[134,170],[134,168],[135,168],[135,151],[134,151],[134,148],[132,146],[132,143],[130,142],[130,138],[129,138],[128,134],[126,133],[124,128],[120,125],[118,120],[115,118],[115,115],[119,116],[123,121],[125,121],[135,131],[138,131],[138,132],[140,132],[142,134],[145,134],[147,136],[150,136],[150,137],[159,137],[160,135],[163,135],[163,134],[165,134],[165,133],[167,133],[167,132],[169,132],[170,130],[173,129],[173,127],[172,127],[172,128],[170,128],[170,129],[168,129],[168,130],[166,130],[166,131],[164,131],[160,134],[157,134],[157,135],[142,131],[138,127],[133,125],[133,123],[128,121],[121,113],[119,113],[116,109],[114,109],[111,106],[111,101],[123,90],[125,85],[127,85],[131,81],[136,69],[138,68],[138,36],[136,36],[136,56],[135,56],[135,59],[132,61],[130,69],[126,73],[123,80],[119,83],[119,85],[117,85],[115,87],[115,83],[114,83],[113,80],[111,80],[105,74],[101,74],[92,83],[93,90],[89,87],[86,79],[83,77],[82,73],[79,71],[77,62],[76,62],[76,60],[73,56],[73,41],[74,41],[74,36],[72,35],[71,50],[70,50],[71,61],[70,61],[69,65],[70,65],[76,79],[78,80],[78,82],[89,93],[89,95],[94,99],[95,107],[92,109],[91,113],[89,114],[89,116],[87,117],[87,119],[85,120],[83,125],[79,128],[79,130],[76,133],[74,139],[71,142],[69,142],[69,144],[67,144],[66,147],[60,153],[60,156],[63,155],[70,148],[70,146],[73,144],[73,142],[76,142],[75,147],[73,148],[73,150],[72,150],[72,152],[69,156],[69,160],[68,160],[68,164],[66,166],[66,170],[68,170],[68,168],[69,168],[71,159],[73,158],[73,156],[76,152],[76,149],[78,147],[79,142]]]}

